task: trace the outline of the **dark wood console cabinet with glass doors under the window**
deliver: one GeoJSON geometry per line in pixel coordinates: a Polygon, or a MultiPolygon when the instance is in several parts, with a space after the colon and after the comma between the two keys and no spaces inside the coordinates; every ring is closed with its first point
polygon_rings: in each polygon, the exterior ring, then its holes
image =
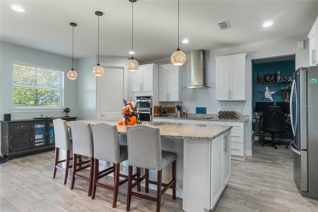
{"type": "Polygon", "coordinates": [[[54,149],[53,119],[74,121],[77,117],[52,117],[1,121],[1,153],[14,156],[54,149]]]}

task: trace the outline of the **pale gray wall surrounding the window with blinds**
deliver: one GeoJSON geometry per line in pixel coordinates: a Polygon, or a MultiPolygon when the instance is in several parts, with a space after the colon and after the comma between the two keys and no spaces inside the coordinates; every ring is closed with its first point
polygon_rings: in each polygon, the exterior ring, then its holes
{"type": "MultiPolygon", "coordinates": [[[[47,116],[65,116],[63,109],[32,109],[21,111],[12,109],[12,63],[20,62],[29,65],[61,69],[65,71],[65,107],[70,107],[70,116],[76,116],[77,110],[77,81],[69,80],[66,73],[72,69],[72,58],[56,55],[36,49],[17,46],[10,43],[0,42],[0,119],[4,113],[11,113],[11,119],[25,119],[39,117],[40,114],[47,116]]],[[[77,70],[77,60],[74,61],[74,69],[77,70]]]]}

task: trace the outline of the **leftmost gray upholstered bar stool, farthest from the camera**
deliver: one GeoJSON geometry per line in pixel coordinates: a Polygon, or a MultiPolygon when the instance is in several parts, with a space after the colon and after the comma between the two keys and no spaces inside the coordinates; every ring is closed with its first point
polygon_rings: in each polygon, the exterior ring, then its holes
{"type": "Polygon", "coordinates": [[[73,159],[70,153],[72,150],[72,143],[70,141],[69,129],[66,120],[61,118],[53,119],[53,127],[55,134],[55,159],[52,178],[55,178],[57,169],[63,170],[65,172],[64,184],[66,184],[68,180],[69,169],[72,168],[70,161],[73,159]],[[66,151],[66,159],[59,160],[60,149],[66,151]],[[59,165],[62,162],[66,163],[65,168],[62,167],[62,164],[59,165]]]}

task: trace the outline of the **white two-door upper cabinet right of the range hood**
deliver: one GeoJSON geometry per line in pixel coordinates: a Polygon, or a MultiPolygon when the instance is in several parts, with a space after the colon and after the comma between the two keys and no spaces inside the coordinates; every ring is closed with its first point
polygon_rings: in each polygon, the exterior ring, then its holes
{"type": "Polygon", "coordinates": [[[246,53],[215,57],[216,100],[245,101],[246,53]]]}

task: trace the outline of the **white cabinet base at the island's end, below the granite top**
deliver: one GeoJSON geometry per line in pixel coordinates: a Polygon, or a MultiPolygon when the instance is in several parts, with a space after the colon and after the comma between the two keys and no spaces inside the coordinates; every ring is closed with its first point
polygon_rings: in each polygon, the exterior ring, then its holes
{"type": "Polygon", "coordinates": [[[185,139],[183,148],[183,165],[187,167],[183,178],[183,210],[209,211],[230,179],[231,131],[212,141],[185,139]]]}

